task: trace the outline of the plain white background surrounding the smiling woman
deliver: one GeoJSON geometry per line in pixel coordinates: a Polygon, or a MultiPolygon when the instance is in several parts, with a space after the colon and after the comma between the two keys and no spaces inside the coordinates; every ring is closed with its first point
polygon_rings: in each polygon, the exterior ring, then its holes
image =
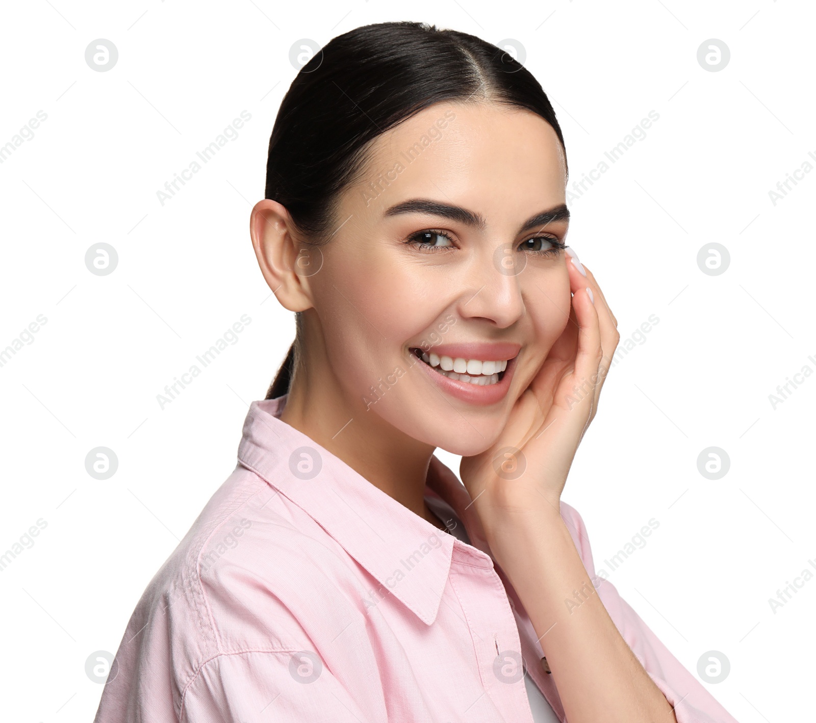
{"type": "Polygon", "coordinates": [[[92,719],[102,686],[86,659],[115,653],[235,467],[247,406],[294,335],[248,233],[290,47],[383,20],[520,42],[572,180],[659,113],[571,203],[570,244],[621,344],[650,314],[659,323],[614,366],[564,499],[599,566],[659,521],[610,580],[695,675],[703,653],[727,656],[730,675],[708,688],[739,721],[814,720],[816,580],[769,605],[816,560],[816,378],[769,401],[816,370],[816,173],[769,198],[816,154],[816,11],[788,0],[4,4],[0,144],[39,110],[47,120],[0,164],[0,348],[38,314],[47,323],[0,367],[0,552],[47,527],[0,573],[2,717],[92,719]],[[104,73],[85,60],[97,38],[118,48],[104,73]],[[698,64],[709,38],[730,47],[719,72],[698,64]],[[242,110],[237,140],[162,206],[157,190],[242,110]],[[118,252],[109,276],[85,266],[100,242],[118,252]],[[697,264],[711,242],[730,252],[718,276],[697,264]],[[237,344],[162,410],[157,394],[242,314],[237,344]],[[85,469],[97,446],[118,456],[105,481],[85,469]],[[730,457],[716,481],[697,468],[709,446],[730,457]]]}

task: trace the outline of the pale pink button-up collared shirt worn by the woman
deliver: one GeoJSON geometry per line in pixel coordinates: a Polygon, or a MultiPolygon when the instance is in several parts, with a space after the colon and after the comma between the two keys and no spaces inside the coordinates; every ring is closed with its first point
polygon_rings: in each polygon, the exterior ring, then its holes
{"type": "MultiPolygon", "coordinates": [[[[471,544],[277,419],[285,404],[252,402],[237,467],[136,605],[95,723],[532,723],[524,668],[564,721],[455,474],[429,474],[426,496],[471,544]]],[[[561,517],[594,578],[581,517],[565,503],[561,517]]],[[[736,723],[596,584],[678,723],[736,723]]]]}

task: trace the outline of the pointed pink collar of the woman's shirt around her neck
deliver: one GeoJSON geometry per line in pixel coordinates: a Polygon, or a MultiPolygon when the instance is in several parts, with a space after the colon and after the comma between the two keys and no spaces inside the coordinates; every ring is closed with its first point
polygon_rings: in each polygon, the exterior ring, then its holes
{"type": "MultiPolygon", "coordinates": [[[[454,545],[462,543],[279,419],[287,397],[251,403],[238,461],[302,508],[384,591],[430,625],[437,617],[454,545]]],[[[472,546],[481,551],[473,551],[472,564],[492,566],[468,491],[436,457],[428,470],[428,491],[449,503],[463,521],[472,546]]]]}

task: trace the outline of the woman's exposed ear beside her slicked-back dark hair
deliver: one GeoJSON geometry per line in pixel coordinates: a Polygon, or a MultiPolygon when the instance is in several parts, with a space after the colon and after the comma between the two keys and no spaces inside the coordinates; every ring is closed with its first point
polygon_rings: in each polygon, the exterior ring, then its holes
{"type": "Polygon", "coordinates": [[[250,216],[250,236],[264,279],[289,311],[299,312],[312,308],[308,275],[297,273],[302,264],[301,249],[295,238],[295,224],[289,211],[277,201],[264,198],[255,204],[250,216]]]}

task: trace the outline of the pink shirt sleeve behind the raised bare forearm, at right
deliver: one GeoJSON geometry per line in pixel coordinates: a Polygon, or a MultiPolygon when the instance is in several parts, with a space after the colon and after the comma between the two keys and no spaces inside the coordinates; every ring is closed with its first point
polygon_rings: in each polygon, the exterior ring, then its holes
{"type": "Polygon", "coordinates": [[[643,622],[640,615],[627,601],[620,597],[612,583],[596,575],[589,546],[587,528],[579,513],[566,503],[561,503],[561,517],[578,548],[601,601],[610,618],[618,628],[636,658],[649,674],[654,685],[674,707],[677,723],[737,723],[703,685],[683,667],[682,663],[663,645],[659,638],[643,622]]]}

